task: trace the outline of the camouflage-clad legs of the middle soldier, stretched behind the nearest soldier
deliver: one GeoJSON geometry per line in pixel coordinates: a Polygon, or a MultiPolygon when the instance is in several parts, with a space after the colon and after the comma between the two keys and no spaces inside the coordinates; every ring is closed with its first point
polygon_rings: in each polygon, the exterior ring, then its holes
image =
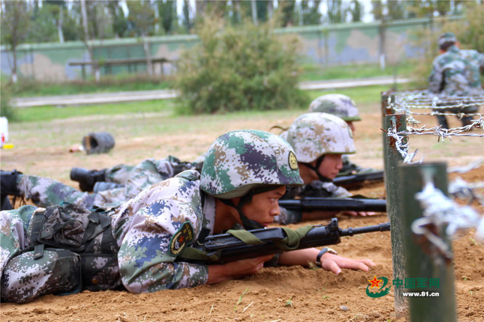
{"type": "Polygon", "coordinates": [[[191,167],[194,165],[181,162],[172,156],[161,160],[147,159],[136,167],[117,165],[107,169],[104,176],[109,182],[122,186],[96,193],[81,192],[58,181],[35,175],[19,175],[17,187],[21,195],[32,199],[40,207],[66,201],[86,209],[91,209],[93,206],[107,209],[119,206],[152,184],[171,178],[191,167]]]}

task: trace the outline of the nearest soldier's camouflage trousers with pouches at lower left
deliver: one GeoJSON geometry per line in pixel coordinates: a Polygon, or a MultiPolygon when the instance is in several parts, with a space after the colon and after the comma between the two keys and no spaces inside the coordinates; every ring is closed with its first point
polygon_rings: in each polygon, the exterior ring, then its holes
{"type": "MultiPolygon", "coordinates": [[[[49,209],[55,207],[64,209],[64,206],[52,206],[49,209]]],[[[50,212],[51,215],[47,216],[49,209],[22,206],[19,209],[0,212],[0,267],[2,269],[0,294],[2,301],[24,303],[46,294],[63,295],[82,289],[118,288],[121,285],[121,279],[117,261],[117,246],[111,233],[111,220],[106,221],[106,218],[109,217],[103,217],[104,227],[109,227],[109,229],[104,228],[106,231],[99,233],[97,227],[100,225],[94,223],[95,220],[91,220],[94,217],[88,211],[77,212],[77,217],[80,219],[74,220],[73,217],[65,214],[59,215],[55,211],[50,212]],[[47,218],[47,224],[36,224],[39,222],[39,218],[41,222],[45,222],[44,217],[47,218]],[[77,240],[84,243],[85,239],[79,239],[80,235],[76,232],[79,235],[76,236],[76,233],[72,233],[72,229],[83,233],[92,232],[93,238],[85,252],[79,254],[60,248],[67,244],[51,247],[39,243],[41,237],[44,239],[52,237],[45,234],[47,231],[45,227],[58,225],[59,220],[53,220],[55,217],[61,218],[64,223],[66,223],[66,219],[69,221],[64,227],[70,229],[70,234],[67,235],[70,235],[69,238],[73,238],[73,240],[77,237],[77,240]],[[73,221],[77,225],[72,225],[73,221]],[[96,228],[94,230],[84,229],[89,227],[91,221],[96,228]],[[84,222],[84,228],[79,225],[80,222],[84,222]],[[42,229],[36,229],[39,227],[42,229]],[[110,239],[108,243],[105,242],[107,239],[110,239]]],[[[94,215],[99,214],[94,213],[94,215]]],[[[64,227],[62,232],[65,231],[64,227]]]]}

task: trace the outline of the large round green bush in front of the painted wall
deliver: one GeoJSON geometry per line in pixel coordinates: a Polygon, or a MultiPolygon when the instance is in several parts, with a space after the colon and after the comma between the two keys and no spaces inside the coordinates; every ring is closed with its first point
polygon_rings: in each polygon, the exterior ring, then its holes
{"type": "Polygon", "coordinates": [[[308,103],[298,89],[298,42],[273,33],[275,19],[236,27],[207,16],[200,42],[178,62],[180,112],[287,109],[308,103]]]}

